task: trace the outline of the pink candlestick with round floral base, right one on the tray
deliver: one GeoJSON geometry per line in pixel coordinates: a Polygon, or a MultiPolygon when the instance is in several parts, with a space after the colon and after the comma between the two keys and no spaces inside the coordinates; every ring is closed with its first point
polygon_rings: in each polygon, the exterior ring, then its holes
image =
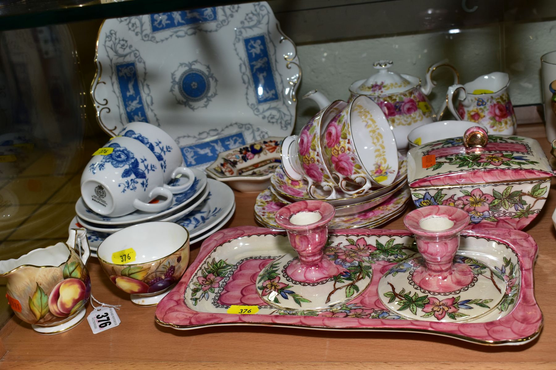
{"type": "Polygon", "coordinates": [[[411,319],[470,321],[498,306],[505,292],[499,273],[475,259],[480,255],[457,255],[467,212],[427,206],[409,212],[404,224],[415,234],[420,256],[396,264],[380,279],[379,296],[387,308],[411,319]]]}

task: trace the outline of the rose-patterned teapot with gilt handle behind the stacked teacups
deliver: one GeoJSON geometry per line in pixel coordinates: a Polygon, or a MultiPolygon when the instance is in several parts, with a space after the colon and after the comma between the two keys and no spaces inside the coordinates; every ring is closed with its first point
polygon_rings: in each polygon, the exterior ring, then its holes
{"type": "MultiPolygon", "coordinates": [[[[394,131],[398,150],[407,150],[410,131],[437,120],[429,99],[426,98],[426,95],[429,95],[436,85],[431,79],[431,75],[439,67],[449,67],[454,74],[454,81],[457,81],[455,83],[459,83],[458,72],[451,64],[443,60],[429,67],[426,72],[425,85],[421,86],[420,78],[389,70],[393,65],[391,60],[379,60],[373,65],[378,70],[377,73],[367,79],[358,80],[349,87],[349,102],[358,95],[365,95],[373,99],[382,108],[390,123],[390,128],[394,131]]],[[[316,92],[316,90],[314,91],[316,92]]],[[[321,109],[330,104],[321,93],[309,93],[305,97],[315,100],[321,109]]],[[[445,107],[446,103],[444,102],[440,115],[444,112],[445,107]]]]}

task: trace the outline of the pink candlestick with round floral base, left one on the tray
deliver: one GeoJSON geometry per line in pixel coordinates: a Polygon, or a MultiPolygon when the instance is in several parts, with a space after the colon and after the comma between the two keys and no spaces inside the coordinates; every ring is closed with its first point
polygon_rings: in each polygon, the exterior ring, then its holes
{"type": "Polygon", "coordinates": [[[287,311],[328,310],[365,290],[373,261],[355,245],[327,242],[334,213],[334,206],[319,200],[295,202],[276,212],[294,250],[261,271],[257,291],[263,301],[287,311]]]}

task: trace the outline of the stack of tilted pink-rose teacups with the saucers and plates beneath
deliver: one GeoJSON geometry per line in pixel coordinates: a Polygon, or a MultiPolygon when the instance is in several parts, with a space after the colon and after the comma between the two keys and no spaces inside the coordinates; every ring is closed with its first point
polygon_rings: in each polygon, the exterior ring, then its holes
{"type": "Polygon", "coordinates": [[[255,204],[262,225],[278,229],[275,212],[300,200],[334,205],[335,228],[376,227],[405,209],[405,156],[382,109],[368,97],[323,108],[299,136],[284,139],[281,153],[282,167],[255,204]]]}

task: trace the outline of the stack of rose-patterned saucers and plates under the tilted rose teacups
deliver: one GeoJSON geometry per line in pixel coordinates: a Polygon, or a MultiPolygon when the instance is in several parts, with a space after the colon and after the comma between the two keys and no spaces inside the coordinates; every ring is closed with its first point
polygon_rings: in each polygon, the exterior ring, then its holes
{"type": "MultiPolygon", "coordinates": [[[[399,154],[398,161],[400,170],[392,184],[352,196],[337,191],[336,199],[326,200],[336,209],[336,215],[329,226],[334,229],[377,227],[402,214],[410,192],[406,181],[405,156],[399,154]]],[[[307,192],[305,180],[291,180],[281,167],[272,175],[270,183],[271,185],[257,196],[255,203],[255,220],[266,227],[280,228],[274,220],[274,215],[286,204],[315,199],[307,192]]]]}

